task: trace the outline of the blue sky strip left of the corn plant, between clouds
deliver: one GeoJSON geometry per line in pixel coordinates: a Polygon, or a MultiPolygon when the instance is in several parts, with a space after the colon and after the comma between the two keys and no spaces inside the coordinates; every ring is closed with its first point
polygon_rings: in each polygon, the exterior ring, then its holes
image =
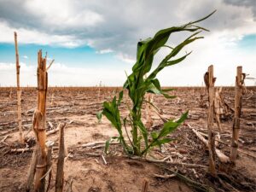
{"type": "MultiPolygon", "coordinates": [[[[123,67],[127,63],[120,61],[114,53],[100,54],[89,46],[65,48],[38,44],[19,44],[20,62],[36,65],[38,50],[47,51],[48,57],[68,67],[123,67]]],[[[15,45],[0,44],[1,62],[15,63],[15,45]]]]}

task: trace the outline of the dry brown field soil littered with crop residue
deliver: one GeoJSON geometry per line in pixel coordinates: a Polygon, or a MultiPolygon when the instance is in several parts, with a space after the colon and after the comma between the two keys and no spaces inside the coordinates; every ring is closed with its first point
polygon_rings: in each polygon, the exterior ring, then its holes
{"type": "MultiPolygon", "coordinates": [[[[159,178],[154,174],[171,174],[166,168],[182,173],[184,176],[211,186],[216,191],[255,191],[256,179],[256,88],[248,88],[242,100],[241,132],[239,145],[241,152],[235,168],[227,165],[218,166],[218,178],[213,179],[203,168],[171,166],[154,164],[142,160],[132,160],[125,157],[117,144],[111,146],[111,154],[102,160],[102,144],[96,148],[83,148],[84,143],[106,141],[109,137],[117,136],[107,119],[99,124],[96,113],[101,110],[102,102],[110,100],[117,94],[119,88],[49,88],[47,102],[47,131],[54,129],[59,123],[67,122],[65,143],[68,158],[65,161],[65,183],[73,183],[73,191],[104,192],[104,191],[141,191],[144,179],[148,180],[148,191],[195,191],[195,187],[184,183],[177,177],[159,178]],[[53,128],[50,127],[53,125],[53,128]],[[254,157],[253,157],[254,156],[254,157]]],[[[234,90],[224,88],[224,100],[234,108],[234,90]]],[[[166,119],[175,119],[189,109],[189,119],[170,137],[176,140],[161,148],[155,148],[151,154],[156,159],[171,156],[172,162],[183,162],[207,166],[207,148],[195,137],[190,127],[207,133],[207,96],[203,88],[180,88],[173,91],[176,99],[166,100],[154,96],[154,104],[166,119]]],[[[37,106],[37,90],[24,88],[22,92],[22,125],[27,133],[32,127],[33,108],[37,106]]],[[[125,96],[125,101],[126,101],[125,96]]],[[[26,173],[30,164],[32,150],[23,153],[10,152],[11,148],[32,148],[34,146],[33,132],[27,135],[28,143],[20,146],[18,143],[18,127],[16,114],[16,94],[14,88],[0,88],[0,191],[22,191],[22,183],[26,181],[26,173]]],[[[123,117],[127,113],[125,104],[121,105],[123,117]]],[[[163,122],[153,113],[154,125],[157,131],[163,122]]],[[[230,154],[230,138],[232,114],[230,119],[223,119],[224,131],[218,148],[224,154],[230,154]]],[[[215,125],[216,131],[217,125],[215,125]]],[[[125,132],[125,131],[124,131],[125,132]]],[[[58,133],[49,135],[48,140],[57,142],[58,133]]],[[[54,164],[57,150],[54,150],[54,164]]],[[[55,167],[53,175],[55,180],[55,167]]],[[[55,187],[51,183],[50,191],[55,187]]],[[[65,188],[66,189],[66,188],[65,188]]]]}

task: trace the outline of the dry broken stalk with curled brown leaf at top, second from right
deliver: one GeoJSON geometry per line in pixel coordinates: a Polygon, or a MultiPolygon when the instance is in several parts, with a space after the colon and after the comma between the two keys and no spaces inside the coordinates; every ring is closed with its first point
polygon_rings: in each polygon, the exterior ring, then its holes
{"type": "Polygon", "coordinates": [[[213,66],[208,67],[208,72],[205,74],[205,83],[207,85],[209,107],[207,113],[207,129],[208,129],[208,149],[209,149],[209,172],[212,177],[216,177],[215,168],[215,147],[214,147],[214,133],[213,133],[213,114],[214,114],[214,83],[213,66]]]}

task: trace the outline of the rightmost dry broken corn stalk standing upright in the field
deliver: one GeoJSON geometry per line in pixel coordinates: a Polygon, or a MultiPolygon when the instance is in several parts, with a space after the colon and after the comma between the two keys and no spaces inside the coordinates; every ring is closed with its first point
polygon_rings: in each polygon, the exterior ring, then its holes
{"type": "Polygon", "coordinates": [[[240,131],[240,117],[241,117],[241,95],[242,95],[242,86],[245,75],[242,73],[242,67],[237,67],[236,69],[236,88],[235,88],[235,117],[233,123],[233,132],[231,140],[231,151],[230,151],[230,160],[234,164],[236,163],[237,148],[238,148],[238,139],[240,131]]]}

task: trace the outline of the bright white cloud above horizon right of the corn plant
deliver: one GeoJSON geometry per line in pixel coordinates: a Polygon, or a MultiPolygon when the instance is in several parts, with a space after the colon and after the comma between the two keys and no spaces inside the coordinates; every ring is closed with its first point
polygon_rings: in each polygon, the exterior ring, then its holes
{"type": "MultiPolygon", "coordinates": [[[[242,51],[237,46],[226,44],[227,40],[212,34],[198,40],[187,50],[193,50],[185,61],[160,72],[162,85],[198,85],[203,83],[207,67],[213,65],[216,85],[234,85],[236,67],[242,66],[244,73],[256,78],[256,56],[253,51],[242,51]]],[[[255,85],[253,80],[246,80],[247,85],[255,85]]]]}

